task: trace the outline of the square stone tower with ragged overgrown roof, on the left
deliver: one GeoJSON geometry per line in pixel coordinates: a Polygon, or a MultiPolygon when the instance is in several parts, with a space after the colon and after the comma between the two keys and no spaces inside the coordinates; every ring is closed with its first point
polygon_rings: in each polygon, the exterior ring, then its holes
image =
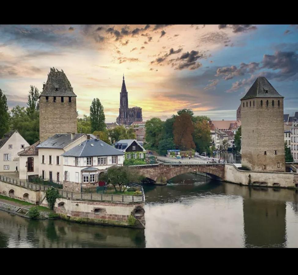
{"type": "Polygon", "coordinates": [[[39,139],[77,132],[76,95],[63,70],[50,69],[39,96],[39,139]]]}

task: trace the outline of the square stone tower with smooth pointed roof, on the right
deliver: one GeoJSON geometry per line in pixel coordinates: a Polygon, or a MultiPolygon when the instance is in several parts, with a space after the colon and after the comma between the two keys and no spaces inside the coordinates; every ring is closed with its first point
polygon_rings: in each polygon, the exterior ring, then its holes
{"type": "Polygon", "coordinates": [[[242,166],[285,172],[283,96],[258,77],[241,98],[242,166]]]}

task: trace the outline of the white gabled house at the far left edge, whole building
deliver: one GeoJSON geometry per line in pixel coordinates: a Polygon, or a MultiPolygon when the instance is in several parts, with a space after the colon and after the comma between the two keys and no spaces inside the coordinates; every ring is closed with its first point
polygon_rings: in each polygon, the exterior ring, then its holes
{"type": "Polygon", "coordinates": [[[14,172],[19,168],[18,152],[29,146],[29,143],[18,131],[6,133],[0,139],[0,172],[14,172]]]}

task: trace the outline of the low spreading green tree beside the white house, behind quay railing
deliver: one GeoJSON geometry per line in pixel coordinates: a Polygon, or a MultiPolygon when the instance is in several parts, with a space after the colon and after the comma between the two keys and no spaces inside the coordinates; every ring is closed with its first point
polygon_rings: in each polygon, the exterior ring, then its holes
{"type": "Polygon", "coordinates": [[[128,166],[112,166],[109,167],[105,172],[101,173],[99,178],[105,181],[107,184],[112,184],[117,191],[125,191],[124,185],[129,183],[139,182],[140,176],[136,171],[132,170],[128,166]],[[123,190],[122,190],[123,188],[123,190]]]}

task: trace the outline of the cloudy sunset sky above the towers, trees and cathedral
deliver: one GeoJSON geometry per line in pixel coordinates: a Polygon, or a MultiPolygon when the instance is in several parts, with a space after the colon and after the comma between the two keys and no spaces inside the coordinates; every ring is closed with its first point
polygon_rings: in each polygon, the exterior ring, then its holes
{"type": "Polygon", "coordinates": [[[119,115],[124,74],[129,107],[143,121],[183,108],[213,120],[236,119],[258,76],[298,111],[298,25],[0,25],[0,89],[9,108],[42,91],[50,68],[63,69],[79,117],[93,98],[106,122],[119,115]]]}

